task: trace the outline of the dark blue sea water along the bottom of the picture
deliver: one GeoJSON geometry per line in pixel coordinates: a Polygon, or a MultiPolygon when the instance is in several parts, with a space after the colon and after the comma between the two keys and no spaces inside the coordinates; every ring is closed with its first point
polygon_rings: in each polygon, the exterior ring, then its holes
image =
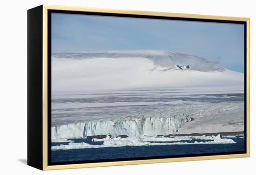
{"type": "MultiPolygon", "coordinates": [[[[56,150],[51,151],[51,162],[94,161],[106,159],[140,158],[155,156],[180,156],[207,153],[223,153],[244,151],[244,138],[231,138],[236,144],[181,144],[157,146],[124,146],[92,149],[56,150]]],[[[91,139],[71,139],[74,142],[88,144],[103,144],[91,142],[91,139]]],[[[195,142],[193,141],[182,142],[195,142]]],[[[200,140],[202,141],[202,140],[200,140]]],[[[52,143],[52,146],[67,143],[52,143]]]]}

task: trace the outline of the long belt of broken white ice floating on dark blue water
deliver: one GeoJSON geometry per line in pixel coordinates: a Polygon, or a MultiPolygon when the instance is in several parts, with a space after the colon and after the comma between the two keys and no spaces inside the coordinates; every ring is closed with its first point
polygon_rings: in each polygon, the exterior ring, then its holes
{"type": "MultiPolygon", "coordinates": [[[[161,137],[162,138],[162,137],[161,137]]],[[[158,138],[156,137],[155,140],[158,138]]],[[[153,139],[151,139],[153,140],[153,139]]],[[[85,148],[105,148],[105,147],[122,147],[122,146],[155,146],[155,145],[179,145],[179,144],[235,144],[236,142],[230,138],[221,138],[220,135],[213,138],[213,140],[205,142],[175,142],[175,143],[152,143],[144,142],[143,138],[121,138],[114,137],[104,139],[104,143],[101,145],[91,145],[87,143],[69,143],[67,145],[61,144],[58,146],[52,146],[51,150],[73,150],[73,149],[85,149],[85,148]]]]}

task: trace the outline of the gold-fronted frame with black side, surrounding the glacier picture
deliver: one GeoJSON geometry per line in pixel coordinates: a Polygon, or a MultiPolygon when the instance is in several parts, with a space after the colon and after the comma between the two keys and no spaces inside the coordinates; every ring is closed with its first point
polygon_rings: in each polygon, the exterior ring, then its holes
{"type": "MultiPolygon", "coordinates": [[[[33,89],[33,87],[28,90],[28,165],[33,166],[42,170],[53,170],[53,169],[75,169],[75,168],[88,168],[88,167],[102,167],[102,166],[118,166],[118,165],[132,165],[132,164],[145,164],[145,163],[161,163],[161,162],[180,162],[180,161],[195,161],[195,160],[209,160],[209,159],[224,159],[224,158],[238,158],[238,157],[249,157],[250,155],[250,122],[249,122],[249,97],[250,97],[250,79],[249,79],[249,18],[239,18],[239,17],[225,17],[225,16],[210,16],[210,15],[197,15],[197,14],[183,14],[183,13],[171,13],[171,12],[147,12],[147,11],[130,11],[130,10],[116,10],[116,9],[101,9],[101,8],[88,8],[88,7],[74,7],[74,6],[51,6],[42,5],[35,7],[34,9],[28,10],[28,87],[31,85],[30,82],[34,82],[36,78],[30,72],[30,66],[32,64],[38,64],[41,69],[35,70],[31,68],[31,71],[41,71],[39,75],[41,84],[41,89],[33,89]],[[186,19],[206,19],[206,20],[224,20],[224,21],[242,21],[246,24],[246,153],[244,154],[230,154],[230,155],[214,155],[214,156],[192,156],[192,157],[176,157],[176,158],[160,158],[160,159],[146,159],[146,160],[131,160],[131,161],[119,161],[119,162],[94,162],[94,163],[79,163],[79,164],[64,164],[64,165],[48,165],[48,12],[49,10],[61,10],[61,11],[75,11],[75,12],[100,12],[100,13],[112,13],[112,14],[128,14],[128,15],[145,15],[145,16],[156,16],[156,17],[174,17],[174,18],[186,18],[186,19]],[[38,16],[37,16],[38,15],[38,16]],[[30,31],[34,25],[39,24],[39,33],[32,35],[30,31]],[[41,36],[38,36],[41,32],[41,36]],[[38,46],[34,41],[37,38],[38,46]],[[37,48],[35,48],[37,47],[37,48]],[[33,50],[37,50],[33,52],[33,50]],[[40,56],[38,59],[35,56],[40,56]],[[33,60],[38,59],[39,61],[33,60]],[[31,63],[30,63],[31,62],[31,63]],[[41,91],[40,91],[41,90],[41,91]],[[41,103],[34,103],[33,95],[39,93],[41,103]],[[36,105],[36,106],[35,106],[36,105]],[[30,112],[32,108],[38,109],[36,111],[30,112]],[[40,109],[40,110],[39,110],[40,109]],[[33,117],[32,117],[33,115],[33,117]],[[32,119],[40,116],[38,119],[32,119]],[[35,134],[42,134],[41,137],[36,140],[35,134]],[[37,142],[41,146],[39,148],[34,148],[33,142],[37,142]],[[38,161],[36,159],[38,158],[38,161]],[[40,160],[39,160],[40,159],[40,160]]],[[[35,28],[37,29],[37,28],[35,28]]],[[[36,87],[35,87],[36,88],[36,87]]]]}

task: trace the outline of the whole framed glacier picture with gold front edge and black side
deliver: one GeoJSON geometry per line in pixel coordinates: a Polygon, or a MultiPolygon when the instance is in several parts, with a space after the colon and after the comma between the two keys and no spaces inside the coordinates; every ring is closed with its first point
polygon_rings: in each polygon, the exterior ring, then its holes
{"type": "Polygon", "coordinates": [[[249,156],[249,18],[28,10],[28,165],[249,156]]]}

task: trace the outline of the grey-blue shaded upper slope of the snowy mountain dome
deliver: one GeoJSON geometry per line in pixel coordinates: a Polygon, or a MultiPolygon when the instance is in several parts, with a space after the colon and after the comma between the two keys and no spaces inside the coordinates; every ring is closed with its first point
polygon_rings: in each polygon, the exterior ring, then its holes
{"type": "Polygon", "coordinates": [[[56,58],[67,59],[92,59],[92,58],[148,58],[155,66],[166,69],[197,70],[201,72],[223,72],[225,68],[218,63],[207,59],[188,55],[184,53],[171,52],[166,50],[115,50],[105,52],[81,52],[81,53],[57,53],[56,58]]]}

